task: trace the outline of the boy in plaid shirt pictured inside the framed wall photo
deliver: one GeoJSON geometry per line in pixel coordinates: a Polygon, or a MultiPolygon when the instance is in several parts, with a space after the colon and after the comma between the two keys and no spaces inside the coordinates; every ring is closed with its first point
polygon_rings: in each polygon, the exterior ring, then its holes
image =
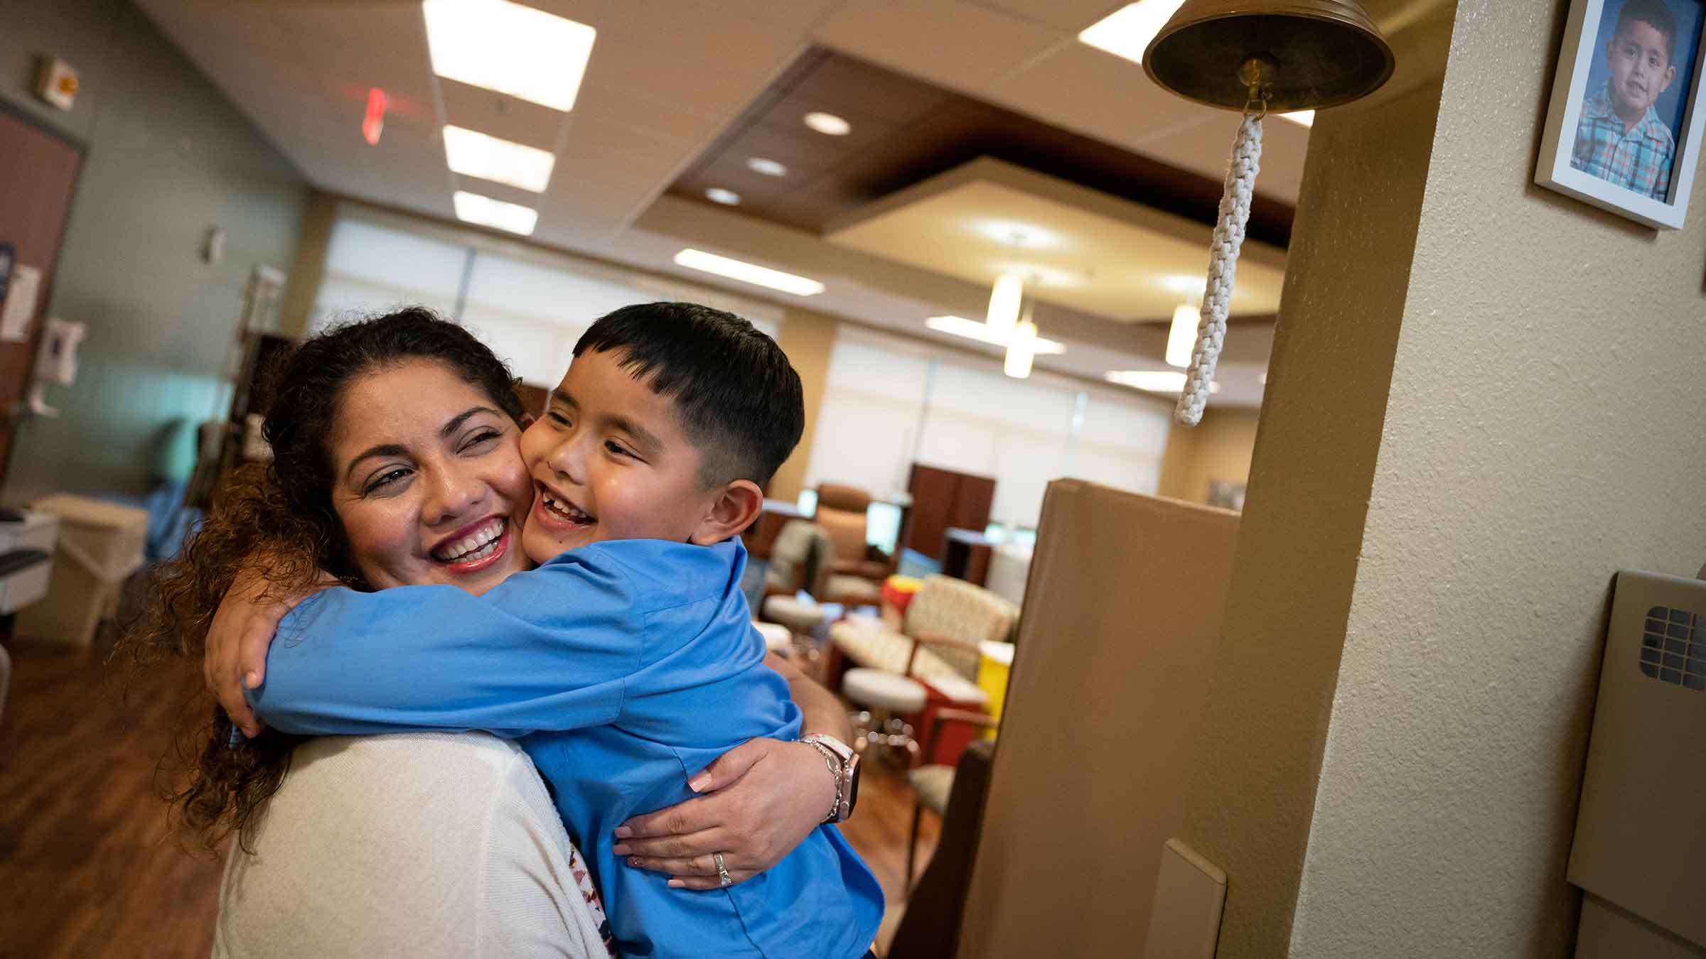
{"type": "Polygon", "coordinates": [[[1605,44],[1610,78],[1590,90],[1570,166],[1641,196],[1667,200],[1675,138],[1653,104],[1677,78],[1677,17],[1665,0],[1628,0],[1605,44]]]}

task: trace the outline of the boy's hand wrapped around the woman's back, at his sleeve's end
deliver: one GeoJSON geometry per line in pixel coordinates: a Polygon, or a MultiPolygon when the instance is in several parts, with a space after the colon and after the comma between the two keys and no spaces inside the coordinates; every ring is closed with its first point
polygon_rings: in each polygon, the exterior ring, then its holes
{"type": "Polygon", "coordinates": [[[261,734],[261,722],[254,718],[242,693],[266,679],[266,648],[273,645],[280,619],[304,599],[333,585],[338,585],[338,578],[321,573],[319,585],[305,592],[273,596],[266,589],[266,577],[249,568],[237,573],[225,599],[220,601],[208,626],[201,676],[208,691],[244,735],[261,734]]]}

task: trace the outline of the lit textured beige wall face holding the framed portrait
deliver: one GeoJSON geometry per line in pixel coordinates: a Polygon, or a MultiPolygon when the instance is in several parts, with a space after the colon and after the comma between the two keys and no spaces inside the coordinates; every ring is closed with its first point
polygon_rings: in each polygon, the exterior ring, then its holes
{"type": "Polygon", "coordinates": [[[1566,7],[1457,14],[1298,956],[1564,956],[1610,577],[1706,558],[1706,200],[1530,184],[1566,7]]]}

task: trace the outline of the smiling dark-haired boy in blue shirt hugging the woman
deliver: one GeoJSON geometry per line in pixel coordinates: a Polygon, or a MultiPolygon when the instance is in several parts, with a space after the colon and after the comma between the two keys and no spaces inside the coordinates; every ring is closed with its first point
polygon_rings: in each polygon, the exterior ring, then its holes
{"type": "Polygon", "coordinates": [[[693,304],[599,319],[520,440],[534,480],[522,548],[543,565],[481,597],[421,585],[305,601],[271,645],[256,713],[300,734],[520,737],[624,956],[865,956],[882,891],[839,829],[703,892],[612,850],[619,824],[691,797],[723,751],[798,735],[740,594],[737,534],[802,425],[798,375],[747,321],[693,304]]]}

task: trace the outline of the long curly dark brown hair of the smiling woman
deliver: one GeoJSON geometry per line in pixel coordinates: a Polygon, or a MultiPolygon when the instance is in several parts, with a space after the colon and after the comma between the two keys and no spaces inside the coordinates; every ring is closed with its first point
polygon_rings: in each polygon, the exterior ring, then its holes
{"type": "MultiPolygon", "coordinates": [[[[121,652],[136,665],[167,657],[201,660],[220,601],[241,577],[259,575],[270,596],[293,596],[329,572],[367,589],[333,507],[331,435],[350,384],[408,360],[435,360],[485,392],[517,423],[522,403],[508,367],[454,323],[408,307],[350,323],[304,341],[275,375],[264,435],[273,459],[232,474],[179,555],[148,575],[147,601],[121,652]]],[[[206,700],[212,703],[212,696],[206,700]]],[[[174,822],[210,850],[237,833],[247,850],[266,802],[305,737],[273,729],[229,746],[230,718],[217,703],[186,722],[174,751],[183,773],[167,788],[174,822]]]]}

